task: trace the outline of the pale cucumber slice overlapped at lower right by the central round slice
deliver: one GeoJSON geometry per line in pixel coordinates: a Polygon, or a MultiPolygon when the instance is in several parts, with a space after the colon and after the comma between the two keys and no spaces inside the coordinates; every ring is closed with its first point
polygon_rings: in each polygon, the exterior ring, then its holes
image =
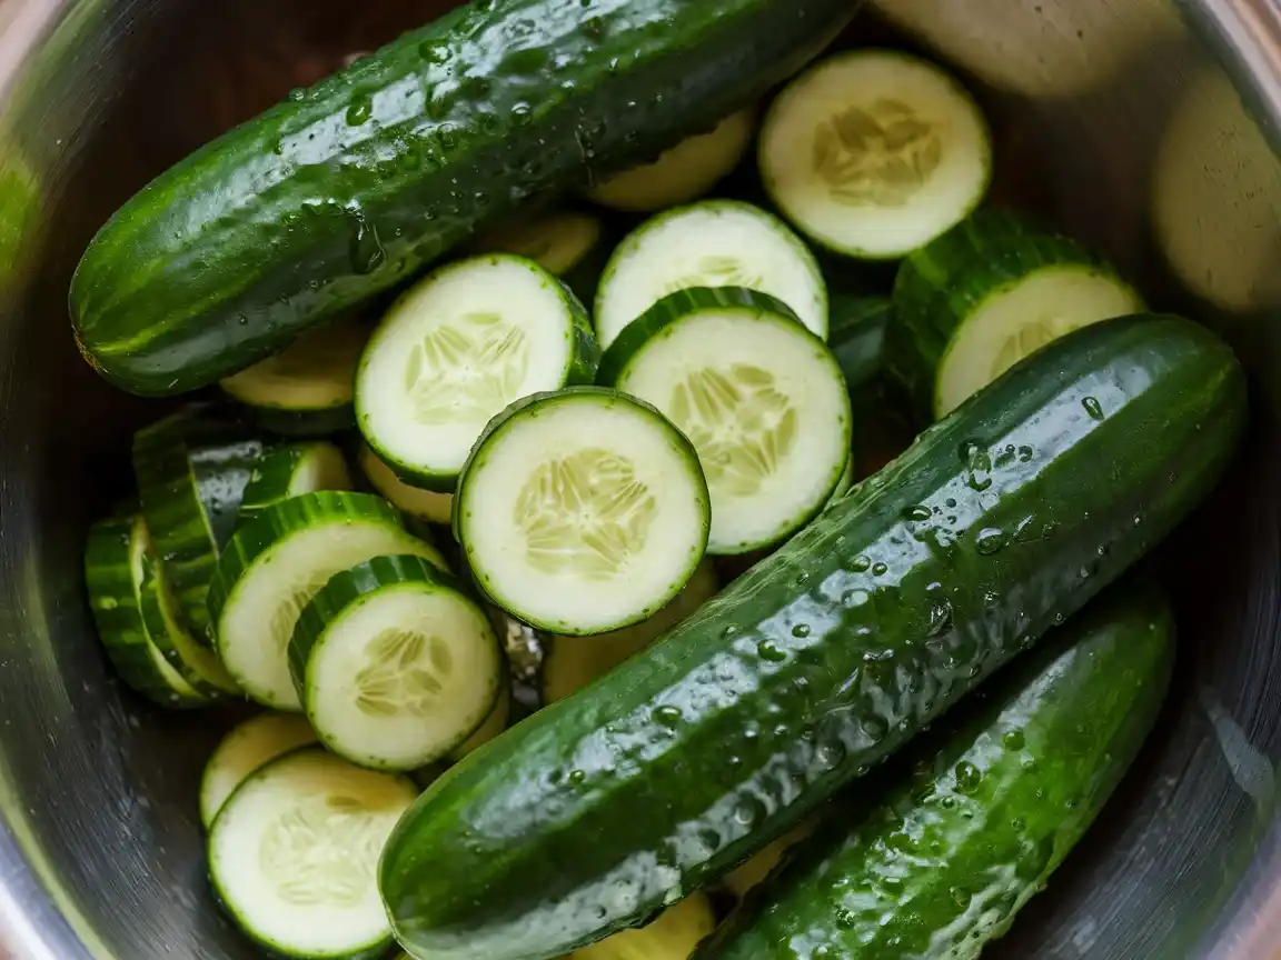
{"type": "Polygon", "coordinates": [[[401,297],[356,375],[360,430],[402,479],[451,493],[484,425],[512,401],[591,383],[583,305],[530,260],[442,268],[401,297]]]}

